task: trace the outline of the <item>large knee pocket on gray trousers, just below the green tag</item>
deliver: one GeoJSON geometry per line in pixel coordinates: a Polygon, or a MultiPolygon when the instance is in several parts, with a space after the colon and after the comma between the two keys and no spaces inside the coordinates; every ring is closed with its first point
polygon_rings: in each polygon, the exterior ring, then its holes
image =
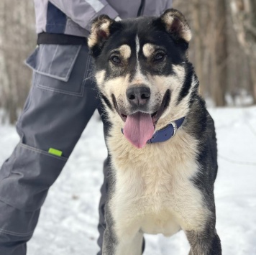
{"type": "Polygon", "coordinates": [[[18,144],[0,171],[0,200],[25,212],[41,208],[67,158],[18,144]]]}

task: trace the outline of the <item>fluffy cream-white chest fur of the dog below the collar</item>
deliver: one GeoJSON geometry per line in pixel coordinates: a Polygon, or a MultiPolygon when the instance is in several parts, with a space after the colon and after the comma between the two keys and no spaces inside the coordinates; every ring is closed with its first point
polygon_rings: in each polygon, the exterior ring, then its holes
{"type": "Polygon", "coordinates": [[[108,140],[116,175],[110,202],[116,233],[170,236],[180,227],[195,228],[198,217],[208,214],[191,182],[198,172],[196,140],[180,130],[168,142],[136,149],[117,132],[108,140]]]}

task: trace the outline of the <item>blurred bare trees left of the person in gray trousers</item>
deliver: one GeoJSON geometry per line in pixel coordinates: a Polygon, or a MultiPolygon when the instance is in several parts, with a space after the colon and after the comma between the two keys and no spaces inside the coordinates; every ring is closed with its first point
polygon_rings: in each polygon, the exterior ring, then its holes
{"type": "Polygon", "coordinates": [[[34,6],[29,0],[0,4],[0,107],[15,123],[31,83],[24,60],[35,47],[34,6]]]}

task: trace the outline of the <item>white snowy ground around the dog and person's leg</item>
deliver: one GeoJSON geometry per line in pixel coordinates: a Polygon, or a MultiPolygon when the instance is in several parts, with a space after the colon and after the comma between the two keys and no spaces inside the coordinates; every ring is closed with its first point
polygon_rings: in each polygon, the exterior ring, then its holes
{"type": "MultiPolygon", "coordinates": [[[[256,255],[256,107],[212,108],[210,113],[219,142],[216,229],[223,254],[256,255]]],[[[0,164],[18,140],[13,126],[0,126],[0,164]]],[[[28,255],[96,254],[105,157],[102,126],[93,116],[50,189],[28,255]]],[[[182,232],[171,238],[146,236],[145,255],[185,255],[188,249],[182,232]]]]}

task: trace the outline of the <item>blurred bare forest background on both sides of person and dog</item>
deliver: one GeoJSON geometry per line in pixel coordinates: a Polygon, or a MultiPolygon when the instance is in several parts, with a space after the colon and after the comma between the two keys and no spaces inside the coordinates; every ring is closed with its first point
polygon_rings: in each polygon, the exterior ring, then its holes
{"type": "MultiPolygon", "coordinates": [[[[256,103],[256,1],[174,0],[173,7],[191,24],[189,55],[201,94],[224,106],[230,104],[227,98],[235,105],[245,91],[256,103]]],[[[0,108],[12,123],[31,84],[24,60],[35,47],[35,35],[33,1],[1,0],[0,108]]]]}

